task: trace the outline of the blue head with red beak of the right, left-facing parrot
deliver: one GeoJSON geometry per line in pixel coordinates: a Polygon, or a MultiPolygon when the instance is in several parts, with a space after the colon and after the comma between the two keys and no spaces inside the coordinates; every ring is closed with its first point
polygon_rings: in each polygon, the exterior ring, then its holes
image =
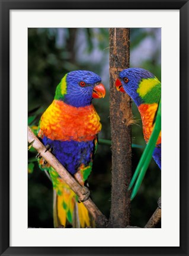
{"type": "Polygon", "coordinates": [[[155,82],[157,81],[157,83],[159,82],[158,79],[146,69],[128,68],[120,72],[119,79],[116,80],[116,88],[118,91],[126,92],[134,100],[134,103],[139,106],[143,101],[140,91],[148,92],[152,84],[155,84],[153,80],[155,80],[155,82]]]}

